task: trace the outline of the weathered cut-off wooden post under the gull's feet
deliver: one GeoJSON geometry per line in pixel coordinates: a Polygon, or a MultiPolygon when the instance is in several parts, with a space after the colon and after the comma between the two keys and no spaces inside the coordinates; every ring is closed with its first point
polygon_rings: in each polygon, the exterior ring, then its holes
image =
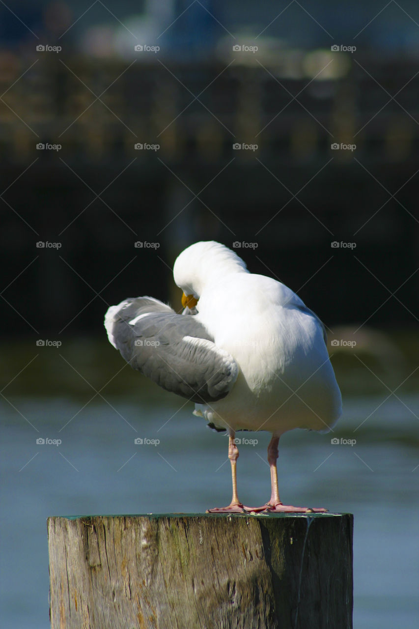
{"type": "Polygon", "coordinates": [[[52,629],[350,629],[345,514],[48,518],[52,629]]]}

